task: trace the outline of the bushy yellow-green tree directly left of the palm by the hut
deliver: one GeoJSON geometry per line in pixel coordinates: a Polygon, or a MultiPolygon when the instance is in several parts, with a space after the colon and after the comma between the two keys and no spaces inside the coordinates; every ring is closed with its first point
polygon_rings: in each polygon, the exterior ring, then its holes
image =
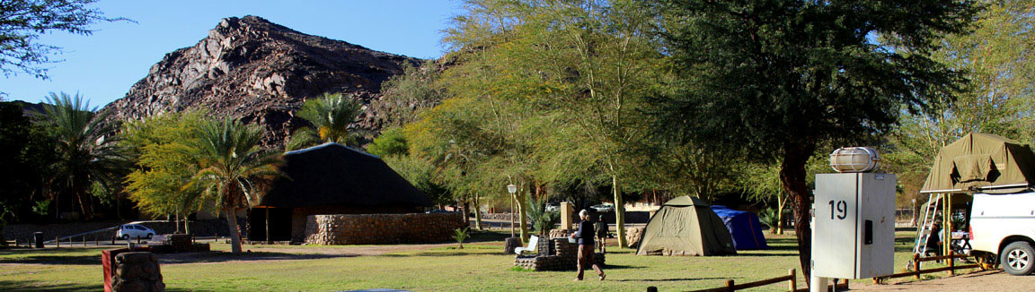
{"type": "MultiPolygon", "coordinates": [[[[179,221],[202,207],[203,190],[190,184],[198,162],[187,150],[196,143],[202,121],[199,111],[168,112],[126,127],[124,142],[137,158],[136,169],[125,179],[126,191],[139,208],[179,221]]],[[[189,226],[184,220],[187,233],[189,226]]]]}

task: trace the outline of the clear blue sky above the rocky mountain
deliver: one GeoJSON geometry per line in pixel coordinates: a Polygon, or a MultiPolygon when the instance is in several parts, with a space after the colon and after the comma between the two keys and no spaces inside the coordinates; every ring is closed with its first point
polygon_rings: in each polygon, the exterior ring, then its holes
{"type": "Polygon", "coordinates": [[[52,33],[42,43],[64,47],[47,64],[51,79],[0,77],[8,100],[39,102],[49,92],[79,92],[91,105],[121,98],[167,53],[190,46],[229,17],[257,15],[296,31],[416,58],[442,55],[441,30],[460,3],[450,0],[341,1],[124,1],[95,4],[108,17],[137,24],[101,23],[90,36],[52,33]]]}

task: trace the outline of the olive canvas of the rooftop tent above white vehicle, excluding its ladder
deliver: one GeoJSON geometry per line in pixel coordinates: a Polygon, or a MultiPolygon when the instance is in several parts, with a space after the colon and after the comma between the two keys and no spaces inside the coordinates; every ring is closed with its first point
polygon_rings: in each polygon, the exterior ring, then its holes
{"type": "Polygon", "coordinates": [[[925,193],[955,193],[980,187],[986,193],[1027,189],[1035,177],[1035,154],[1028,145],[993,134],[970,133],[943,148],[930,167],[925,193]]]}

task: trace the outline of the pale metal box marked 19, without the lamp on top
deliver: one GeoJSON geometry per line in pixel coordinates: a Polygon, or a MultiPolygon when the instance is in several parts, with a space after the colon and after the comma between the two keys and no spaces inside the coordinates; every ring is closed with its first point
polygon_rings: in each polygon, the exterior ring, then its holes
{"type": "Polygon", "coordinates": [[[893,272],[895,176],[816,175],[812,274],[865,279],[893,272]]]}

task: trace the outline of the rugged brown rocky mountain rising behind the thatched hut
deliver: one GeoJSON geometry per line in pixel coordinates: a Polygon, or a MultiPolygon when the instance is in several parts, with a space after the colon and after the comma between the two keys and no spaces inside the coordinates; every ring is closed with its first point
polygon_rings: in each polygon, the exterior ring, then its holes
{"type": "MultiPolygon", "coordinates": [[[[198,44],[169,53],[125,97],[102,110],[140,120],[205,108],[266,129],[264,145],[278,148],[305,125],[294,116],[306,98],[341,92],[369,105],[381,84],[417,59],[307,35],[258,17],[224,19],[198,44]]],[[[373,106],[352,126],[376,132],[384,118],[373,106]]]]}

